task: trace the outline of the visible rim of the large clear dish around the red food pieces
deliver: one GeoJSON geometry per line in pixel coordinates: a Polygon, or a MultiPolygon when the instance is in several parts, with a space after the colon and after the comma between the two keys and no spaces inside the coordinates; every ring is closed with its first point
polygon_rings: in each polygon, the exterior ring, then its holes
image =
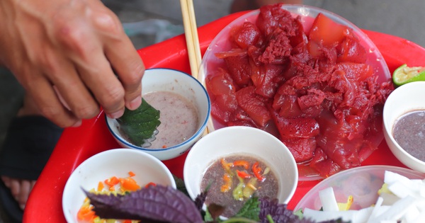
{"type": "MultiPolygon", "coordinates": [[[[305,31],[310,30],[314,18],[316,18],[319,13],[323,13],[325,16],[331,18],[337,23],[348,26],[353,30],[353,33],[356,34],[361,45],[365,47],[365,50],[367,52],[366,64],[372,66],[375,70],[375,74],[378,74],[378,81],[383,82],[391,78],[391,74],[387,67],[387,64],[385,63],[385,60],[379,52],[378,48],[375,46],[372,40],[370,40],[368,36],[363,33],[360,28],[358,28],[350,21],[347,21],[345,18],[342,18],[341,16],[338,16],[335,13],[331,13],[330,11],[326,11],[322,8],[317,8],[313,6],[284,4],[282,8],[287,11],[290,11],[290,13],[292,13],[294,17],[301,16],[302,24],[305,31]]],[[[232,21],[232,23],[229,23],[229,25],[223,28],[220,33],[218,33],[218,35],[212,40],[200,64],[199,80],[204,86],[205,79],[207,76],[214,74],[214,72],[218,68],[225,67],[224,60],[215,57],[215,53],[226,52],[232,49],[229,34],[232,28],[242,25],[246,21],[255,22],[258,16],[259,10],[251,11],[249,13],[244,14],[243,16],[232,21]]],[[[213,130],[220,129],[222,127],[225,127],[225,125],[215,120],[215,118],[210,117],[210,120],[208,122],[208,130],[210,132],[213,130]]],[[[383,139],[383,134],[380,137],[382,137],[383,139]]],[[[310,168],[308,167],[304,170],[300,170],[299,173],[300,181],[314,181],[322,179],[322,177],[319,176],[318,173],[316,173],[314,170],[310,170],[310,168]]]]}

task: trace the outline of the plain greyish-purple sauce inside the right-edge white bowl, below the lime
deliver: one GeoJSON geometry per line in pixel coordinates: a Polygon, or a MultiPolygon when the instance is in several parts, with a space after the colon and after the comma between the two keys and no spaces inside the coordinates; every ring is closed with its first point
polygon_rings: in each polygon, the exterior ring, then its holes
{"type": "Polygon", "coordinates": [[[425,110],[402,115],[395,122],[393,136],[407,153],[425,161],[425,110]]]}

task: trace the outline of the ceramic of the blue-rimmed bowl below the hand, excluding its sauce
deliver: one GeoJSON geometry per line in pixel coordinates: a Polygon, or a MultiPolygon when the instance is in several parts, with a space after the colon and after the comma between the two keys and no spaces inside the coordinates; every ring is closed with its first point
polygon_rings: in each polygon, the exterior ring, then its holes
{"type": "Polygon", "coordinates": [[[174,69],[147,69],[142,79],[142,95],[153,91],[171,91],[178,93],[184,98],[191,101],[195,105],[198,112],[198,128],[196,133],[186,139],[181,144],[176,144],[165,149],[149,149],[136,146],[128,142],[121,132],[118,131],[118,122],[115,119],[108,118],[106,115],[106,124],[108,129],[115,137],[121,147],[140,149],[148,154],[152,154],[160,160],[172,159],[184,154],[192,145],[202,137],[207,127],[208,118],[210,116],[210,98],[207,91],[200,82],[193,76],[174,69]]]}

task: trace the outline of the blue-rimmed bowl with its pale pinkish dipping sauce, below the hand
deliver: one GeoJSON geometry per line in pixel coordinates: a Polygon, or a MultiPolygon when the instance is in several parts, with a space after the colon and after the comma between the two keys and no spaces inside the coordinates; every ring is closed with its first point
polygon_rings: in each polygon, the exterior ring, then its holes
{"type": "Polygon", "coordinates": [[[142,98],[159,110],[158,132],[148,144],[135,144],[120,130],[118,120],[105,115],[108,129],[120,146],[167,160],[184,154],[205,132],[210,98],[193,76],[175,69],[147,69],[142,78],[142,98]]]}

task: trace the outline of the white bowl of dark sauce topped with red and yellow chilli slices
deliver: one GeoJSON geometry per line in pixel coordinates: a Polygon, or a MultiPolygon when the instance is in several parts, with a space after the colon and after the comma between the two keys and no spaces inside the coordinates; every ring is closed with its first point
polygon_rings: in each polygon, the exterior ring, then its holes
{"type": "Polygon", "coordinates": [[[297,187],[295,159],[283,142],[254,127],[223,127],[208,133],[188,152],[183,178],[190,197],[208,188],[206,205],[225,206],[232,217],[255,193],[288,203],[297,187]]]}

